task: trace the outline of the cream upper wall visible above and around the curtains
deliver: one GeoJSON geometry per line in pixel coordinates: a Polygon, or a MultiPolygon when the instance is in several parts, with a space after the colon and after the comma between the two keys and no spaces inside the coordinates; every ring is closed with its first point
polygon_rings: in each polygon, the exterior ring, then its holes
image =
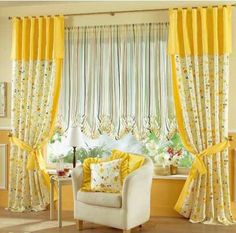
{"type": "MultiPolygon", "coordinates": [[[[11,21],[8,16],[66,14],[79,12],[119,11],[131,9],[155,9],[173,6],[206,5],[207,2],[80,2],[80,3],[53,3],[33,6],[18,6],[0,8],[0,81],[11,82],[11,21]]],[[[210,2],[208,4],[216,4],[210,2]]],[[[111,15],[74,16],[66,17],[67,26],[90,26],[128,23],[167,22],[168,11],[147,13],[127,13],[111,15]]],[[[233,52],[230,67],[229,91],[229,130],[236,132],[236,8],[233,9],[233,52]]],[[[8,99],[10,103],[10,98],[8,99]]],[[[10,113],[8,117],[0,118],[0,127],[10,126],[10,113]]]]}

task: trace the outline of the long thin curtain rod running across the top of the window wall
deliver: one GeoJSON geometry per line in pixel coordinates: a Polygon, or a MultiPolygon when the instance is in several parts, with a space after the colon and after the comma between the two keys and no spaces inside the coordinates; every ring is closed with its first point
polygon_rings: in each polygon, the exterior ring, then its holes
{"type": "MultiPolygon", "coordinates": [[[[223,5],[227,6],[227,5],[223,5]]],[[[230,6],[235,7],[236,4],[232,4],[230,6]]],[[[202,6],[202,8],[207,8],[208,6],[202,6]]],[[[211,7],[218,7],[217,5],[213,5],[211,7]]],[[[198,7],[192,7],[193,9],[197,9],[198,7]]],[[[173,8],[178,9],[178,8],[173,8]]],[[[188,9],[187,7],[183,7],[182,9],[188,9]]],[[[115,14],[123,14],[123,13],[138,13],[138,12],[153,12],[153,11],[168,11],[169,8],[158,8],[158,9],[143,9],[143,10],[127,10],[127,11],[102,11],[102,12],[88,12],[88,13],[71,13],[71,14],[64,14],[64,16],[86,16],[86,15],[111,15],[114,16],[115,14]]],[[[63,14],[62,14],[63,15],[63,14]]],[[[48,15],[51,16],[51,15],[48,15]]],[[[55,15],[58,16],[58,15],[55,15]]],[[[26,16],[29,17],[29,16],[26,16]]],[[[36,16],[31,16],[36,17],[36,16]]],[[[43,16],[39,16],[43,17],[43,16]]],[[[12,19],[12,16],[9,16],[8,19],[12,19]]],[[[16,16],[16,18],[21,18],[19,16],[16,16]]]]}

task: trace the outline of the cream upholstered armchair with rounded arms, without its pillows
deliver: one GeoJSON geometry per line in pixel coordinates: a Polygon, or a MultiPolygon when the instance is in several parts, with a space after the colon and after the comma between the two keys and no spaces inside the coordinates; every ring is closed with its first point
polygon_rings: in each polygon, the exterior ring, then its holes
{"type": "Polygon", "coordinates": [[[83,221],[131,232],[150,218],[150,193],[153,163],[145,158],[142,167],[129,174],[121,193],[79,191],[83,180],[82,166],[72,171],[74,218],[79,230],[83,221]]]}

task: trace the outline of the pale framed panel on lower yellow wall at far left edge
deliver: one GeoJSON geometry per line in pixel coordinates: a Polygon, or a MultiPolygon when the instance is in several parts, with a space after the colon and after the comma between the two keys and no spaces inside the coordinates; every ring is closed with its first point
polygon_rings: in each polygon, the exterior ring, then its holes
{"type": "Polygon", "coordinates": [[[7,144],[0,144],[0,189],[7,189],[7,144]],[[1,153],[2,152],[2,153],[1,153]]]}

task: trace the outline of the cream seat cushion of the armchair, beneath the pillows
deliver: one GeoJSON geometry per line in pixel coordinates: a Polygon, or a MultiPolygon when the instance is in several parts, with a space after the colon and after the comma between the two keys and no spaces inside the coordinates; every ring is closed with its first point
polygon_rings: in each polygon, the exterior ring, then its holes
{"type": "Polygon", "coordinates": [[[77,200],[89,205],[121,208],[122,197],[120,193],[77,192],[77,200]]]}

